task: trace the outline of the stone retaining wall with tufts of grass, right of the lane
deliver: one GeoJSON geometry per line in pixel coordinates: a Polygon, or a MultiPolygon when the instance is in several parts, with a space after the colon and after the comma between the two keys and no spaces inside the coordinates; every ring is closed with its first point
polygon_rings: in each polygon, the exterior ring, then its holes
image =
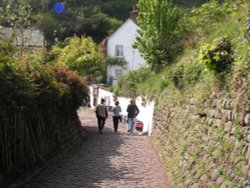
{"type": "Polygon", "coordinates": [[[173,187],[250,187],[250,101],[161,101],[153,138],[173,187]]]}

